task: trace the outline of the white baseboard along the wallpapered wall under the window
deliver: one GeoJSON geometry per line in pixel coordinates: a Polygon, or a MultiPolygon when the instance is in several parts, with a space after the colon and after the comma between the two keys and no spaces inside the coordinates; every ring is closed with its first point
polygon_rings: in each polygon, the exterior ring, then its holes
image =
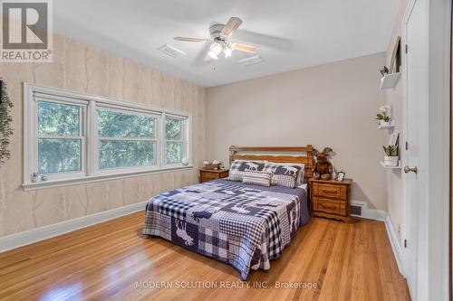
{"type": "Polygon", "coordinates": [[[98,212],[87,216],[82,216],[69,221],[61,221],[51,225],[43,226],[33,230],[14,233],[4,237],[0,237],[0,253],[10,249],[23,247],[34,242],[47,240],[73,230],[79,230],[102,221],[108,221],[118,218],[123,215],[128,215],[134,212],[140,212],[145,209],[147,202],[137,202],[128,206],[112,209],[105,212],[98,212]]]}

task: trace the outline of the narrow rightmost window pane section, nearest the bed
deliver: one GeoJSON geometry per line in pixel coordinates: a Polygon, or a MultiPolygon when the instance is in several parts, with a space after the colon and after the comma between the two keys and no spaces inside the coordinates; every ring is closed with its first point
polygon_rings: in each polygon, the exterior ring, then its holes
{"type": "Polygon", "coordinates": [[[174,165],[182,161],[185,154],[185,120],[180,118],[165,119],[166,164],[174,165]]]}

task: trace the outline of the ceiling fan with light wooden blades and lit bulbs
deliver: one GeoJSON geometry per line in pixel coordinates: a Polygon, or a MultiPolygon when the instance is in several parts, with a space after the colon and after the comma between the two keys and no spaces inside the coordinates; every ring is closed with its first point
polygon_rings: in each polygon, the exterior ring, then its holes
{"type": "Polygon", "coordinates": [[[231,52],[234,50],[240,52],[256,52],[256,47],[252,45],[247,45],[240,42],[230,41],[230,37],[235,33],[237,27],[242,24],[242,20],[237,17],[231,17],[228,22],[224,24],[214,24],[209,27],[210,38],[187,38],[187,37],[174,37],[177,41],[183,42],[206,42],[210,43],[209,51],[205,57],[205,61],[213,59],[217,60],[217,56],[224,52],[225,57],[231,56],[231,52]]]}

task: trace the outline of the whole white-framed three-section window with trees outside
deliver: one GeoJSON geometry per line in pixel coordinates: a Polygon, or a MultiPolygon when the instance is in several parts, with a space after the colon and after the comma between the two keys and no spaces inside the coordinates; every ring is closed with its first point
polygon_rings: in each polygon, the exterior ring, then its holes
{"type": "Polygon", "coordinates": [[[25,188],[190,162],[184,114],[24,83],[24,116],[25,188]]]}

